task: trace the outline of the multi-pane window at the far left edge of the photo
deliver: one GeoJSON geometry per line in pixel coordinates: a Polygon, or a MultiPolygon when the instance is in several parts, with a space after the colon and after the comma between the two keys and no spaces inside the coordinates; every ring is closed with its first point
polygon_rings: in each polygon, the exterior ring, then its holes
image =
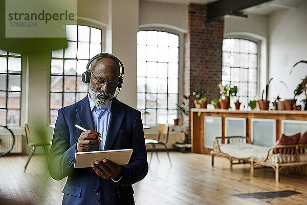
{"type": "Polygon", "coordinates": [[[20,126],[21,55],[0,50],[0,125],[20,126]]]}

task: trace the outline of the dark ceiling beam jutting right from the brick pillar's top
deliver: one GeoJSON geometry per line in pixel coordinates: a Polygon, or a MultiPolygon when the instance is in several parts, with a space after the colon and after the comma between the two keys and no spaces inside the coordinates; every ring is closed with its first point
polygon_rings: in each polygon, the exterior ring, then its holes
{"type": "Polygon", "coordinates": [[[229,13],[240,13],[250,7],[259,7],[278,0],[220,0],[207,4],[207,21],[223,17],[229,13]]]}

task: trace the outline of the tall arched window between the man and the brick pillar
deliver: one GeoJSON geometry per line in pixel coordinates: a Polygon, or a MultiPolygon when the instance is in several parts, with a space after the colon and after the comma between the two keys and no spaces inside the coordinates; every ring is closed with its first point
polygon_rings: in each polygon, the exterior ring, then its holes
{"type": "Polygon", "coordinates": [[[179,35],[139,31],[137,109],[145,125],[173,124],[178,116],[179,35]]]}

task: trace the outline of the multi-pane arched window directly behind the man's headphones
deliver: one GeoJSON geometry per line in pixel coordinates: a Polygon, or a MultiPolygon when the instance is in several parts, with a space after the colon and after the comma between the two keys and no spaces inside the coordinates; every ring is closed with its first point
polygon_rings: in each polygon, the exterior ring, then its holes
{"type": "Polygon", "coordinates": [[[50,73],[50,123],[57,110],[76,103],[86,96],[88,86],[81,80],[91,57],[101,52],[101,33],[97,28],[82,25],[66,26],[68,47],[53,51],[50,73]]]}

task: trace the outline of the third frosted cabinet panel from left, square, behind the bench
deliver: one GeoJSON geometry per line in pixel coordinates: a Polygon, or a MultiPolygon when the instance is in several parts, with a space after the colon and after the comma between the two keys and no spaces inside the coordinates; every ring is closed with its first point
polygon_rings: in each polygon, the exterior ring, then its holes
{"type": "Polygon", "coordinates": [[[251,119],[251,140],[254,145],[271,147],[276,141],[275,119],[251,119]]]}

